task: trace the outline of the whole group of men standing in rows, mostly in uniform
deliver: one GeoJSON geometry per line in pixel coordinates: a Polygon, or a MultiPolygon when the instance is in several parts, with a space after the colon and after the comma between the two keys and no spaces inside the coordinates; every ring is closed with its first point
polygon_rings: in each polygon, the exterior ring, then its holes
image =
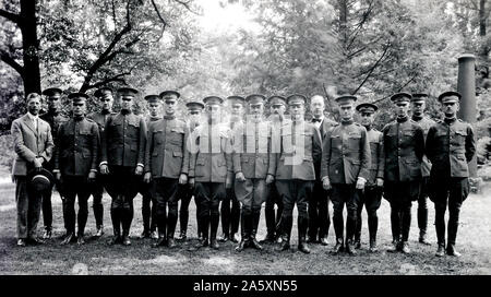
{"type": "Polygon", "coordinates": [[[456,118],[460,99],[456,92],[439,96],[444,114],[440,122],[423,115],[428,95],[393,95],[396,119],[382,131],[373,127],[378,106],[356,106],[357,97],[348,94],[336,97],[340,116],[337,123],[324,116],[324,98],[320,95],[310,102],[300,94],[286,98],[230,96],[228,121],[223,120],[225,100],[208,96],[203,102],[185,104],[184,121],[177,117],[180,94],[176,91],[145,96],[149,110],[146,118],[132,110],[137,90],[121,87],[117,93],[121,100],[118,114],[111,111],[112,91],[103,87],[94,94],[101,110],[88,116],[88,95],[71,93],[70,119],[60,112],[61,90],[43,92],[49,105],[43,116],[38,116],[40,96],[27,96],[27,114],[12,123],[17,153],[13,175],[17,183],[19,246],[41,242],[34,236],[39,204],[45,219],[44,239],[51,237],[51,189],[33,190],[44,177],[53,180],[63,202],[67,234],[62,245],[84,243],[91,194],[96,236],[104,234],[105,188],[111,197],[110,245],[131,245],[133,199],[141,193],[141,237],[154,238],[154,247],[172,248],[177,245],[175,239],[187,238],[189,204],[194,197],[196,248],[218,249],[218,241],[230,240],[238,242],[237,251],[248,247],[263,249],[256,235],[265,203],[267,233],[263,241],[277,242],[279,251],[290,249],[297,206],[298,249],[309,253],[308,243],[327,245],[331,200],[336,238],[332,252],[356,254],[356,249],[361,248],[363,205],[368,213],[369,250],[375,252],[376,211],[384,197],[391,204],[393,241],[388,251],[409,253],[411,203],[419,204],[419,241],[428,245],[430,198],[435,204],[436,256],[445,251],[459,256],[455,249],[458,215],[468,195],[467,163],[474,157],[476,145],[471,126],[456,118]],[[311,120],[304,119],[308,104],[311,120]],[[271,116],[265,119],[267,105],[271,116]],[[355,122],[356,111],[360,123],[355,122]],[[223,236],[217,238],[220,213],[223,236]],[[180,231],[176,236],[179,217],[180,231]]]}

